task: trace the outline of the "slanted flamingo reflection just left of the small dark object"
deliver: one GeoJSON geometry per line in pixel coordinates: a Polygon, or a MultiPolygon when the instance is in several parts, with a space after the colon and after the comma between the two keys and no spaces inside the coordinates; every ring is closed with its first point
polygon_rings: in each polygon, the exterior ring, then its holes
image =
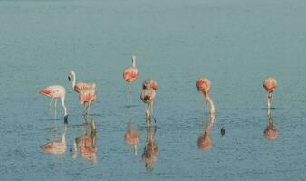
{"type": "Polygon", "coordinates": [[[215,121],[215,114],[211,114],[206,122],[206,129],[200,134],[197,139],[197,147],[201,150],[207,150],[212,147],[212,138],[210,131],[215,121]]]}

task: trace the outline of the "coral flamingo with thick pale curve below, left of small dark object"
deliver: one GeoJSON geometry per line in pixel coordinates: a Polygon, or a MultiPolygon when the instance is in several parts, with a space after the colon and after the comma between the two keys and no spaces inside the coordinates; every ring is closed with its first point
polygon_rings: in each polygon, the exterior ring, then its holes
{"type": "Polygon", "coordinates": [[[196,81],[196,88],[202,92],[206,98],[206,102],[210,104],[210,114],[215,114],[215,105],[213,100],[209,97],[209,90],[211,88],[211,82],[206,78],[199,78],[196,81]]]}

